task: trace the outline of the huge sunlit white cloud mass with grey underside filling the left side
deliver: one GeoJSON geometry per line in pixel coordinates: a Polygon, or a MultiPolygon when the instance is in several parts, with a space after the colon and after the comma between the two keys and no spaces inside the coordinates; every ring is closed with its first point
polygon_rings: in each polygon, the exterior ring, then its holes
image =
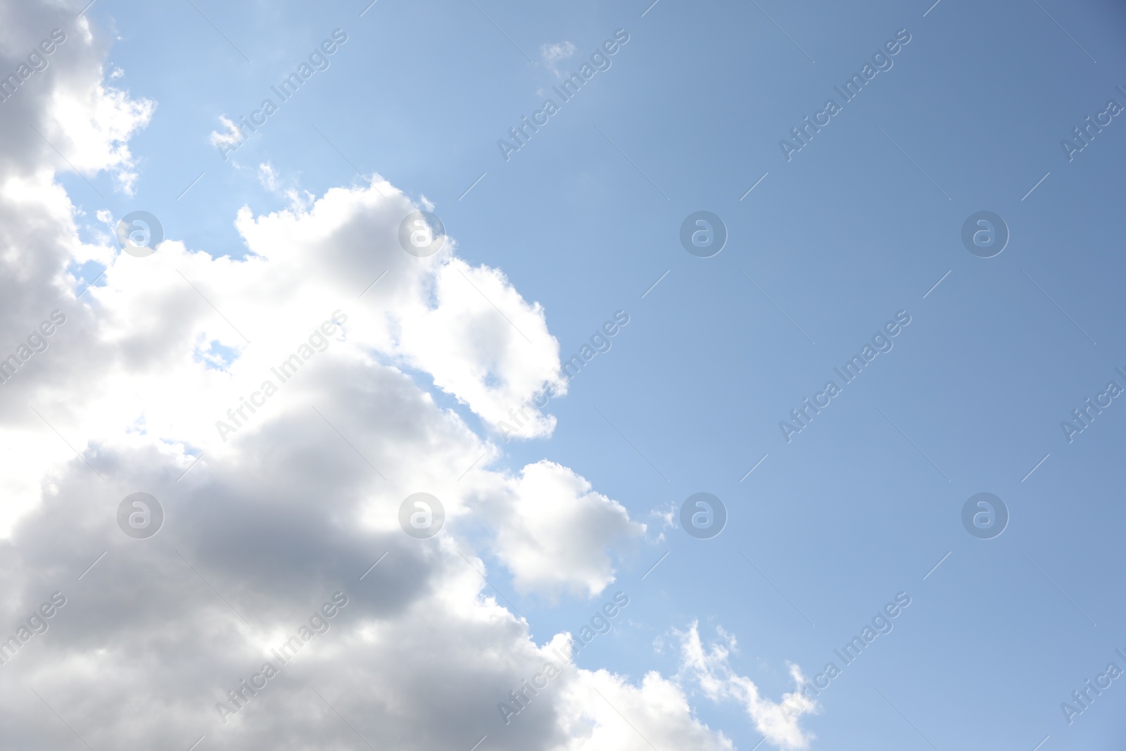
{"type": "Polygon", "coordinates": [[[647,748],[641,734],[730,749],[656,673],[635,683],[572,668],[519,723],[497,713],[546,647],[484,593],[481,561],[509,566],[525,591],[590,594],[613,581],[613,546],[644,529],[566,467],[508,471],[420,383],[495,423],[557,372],[543,309],[459,260],[453,239],[430,258],[403,252],[399,223],[415,206],[378,177],[239,211],[241,260],[176,239],[135,258],[96,224],[83,242],[88,217],[55,180],[65,163],[25,126],[128,190],[128,137],[155,110],[104,84],[105,43],[75,16],[0,10],[6,66],[52,28],[69,35],[0,122],[0,355],[51,311],[66,316],[0,385],[0,638],[16,636],[0,652],[6,742],[468,749],[488,734],[490,749],[647,748]],[[105,267],[84,292],[72,272],[83,261],[105,267]],[[291,356],[283,381],[274,369],[291,356]],[[276,391],[262,397],[267,381],[276,391]],[[420,490],[447,511],[422,540],[397,522],[420,490]],[[117,526],[136,491],[166,512],[149,539],[117,526]],[[53,592],[65,605],[30,620],[53,592]],[[334,592],[347,606],[303,638],[334,592]],[[280,664],[272,651],[291,636],[300,650],[280,664]],[[267,661],[278,674],[243,689],[267,661]]]}

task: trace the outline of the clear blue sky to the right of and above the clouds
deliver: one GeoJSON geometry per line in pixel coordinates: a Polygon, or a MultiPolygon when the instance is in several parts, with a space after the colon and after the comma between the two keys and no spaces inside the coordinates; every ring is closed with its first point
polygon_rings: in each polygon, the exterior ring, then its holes
{"type": "MultiPolygon", "coordinates": [[[[239,208],[288,205],[259,164],[314,196],[366,185],[358,169],[432,202],[461,258],[543,305],[564,359],[628,314],[552,400],[548,438],[504,442],[432,388],[503,449],[495,466],[548,458],[649,525],[614,551],[617,580],[593,598],[518,593],[482,554],[537,643],[622,590],[629,606],[580,667],[676,673],[674,632],[698,620],[705,644],[717,627],[733,635],[732,669],[778,699],[788,663],[812,677],[838,662],[833,650],[906,592],[894,629],[802,717],[811,748],[1126,737],[1121,681],[1073,723],[1061,712],[1107,663],[1126,668],[1126,406],[1115,399],[1070,442],[1061,429],[1107,382],[1126,387],[1112,208],[1126,120],[1071,160],[1061,146],[1108,99],[1126,106],[1121,7],[193,2],[87,11],[107,73],[124,71],[110,83],[157,101],[129,141],[135,195],[105,172],[91,177],[105,202],[60,178],[88,220],[149,211],[188,249],[242,258],[239,208]],[[348,41],[331,65],[224,160],[220,117],[256,109],[333,29],[348,41]],[[506,160],[498,140],[560,82],[544,45],[573,45],[555,65],[577,71],[618,29],[628,42],[611,66],[506,160]],[[787,159],[779,140],[841,102],[833,87],[901,29],[892,68],[787,159]],[[729,231],[706,259],[678,239],[701,209],[729,231]],[[962,244],[978,211],[1010,232],[993,258],[962,244]],[[833,369],[901,311],[894,347],[787,441],[779,421],[841,384],[833,369]],[[659,512],[678,519],[699,491],[726,506],[720,536],[662,527],[659,512]],[[978,492],[1009,509],[993,539],[962,526],[978,492]]],[[[735,701],[697,691],[691,705],[738,749],[762,737],[735,701]]]]}

